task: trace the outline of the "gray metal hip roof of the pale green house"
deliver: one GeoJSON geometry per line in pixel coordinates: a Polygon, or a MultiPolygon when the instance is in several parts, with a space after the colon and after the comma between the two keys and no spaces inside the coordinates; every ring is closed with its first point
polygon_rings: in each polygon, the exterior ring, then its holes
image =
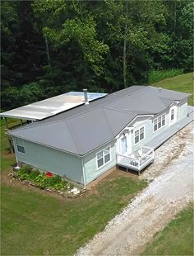
{"type": "Polygon", "coordinates": [[[132,86],[9,134],[84,155],[113,140],[136,116],[155,115],[188,96],[150,86],[132,86]]]}

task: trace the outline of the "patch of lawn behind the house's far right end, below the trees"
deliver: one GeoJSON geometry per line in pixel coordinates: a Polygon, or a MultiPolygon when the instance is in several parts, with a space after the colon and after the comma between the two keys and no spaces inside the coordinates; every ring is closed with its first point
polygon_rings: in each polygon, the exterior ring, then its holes
{"type": "Polygon", "coordinates": [[[193,73],[184,73],[173,78],[167,78],[158,83],[154,83],[154,86],[166,88],[169,90],[191,93],[189,98],[189,105],[194,105],[193,97],[193,73]]]}

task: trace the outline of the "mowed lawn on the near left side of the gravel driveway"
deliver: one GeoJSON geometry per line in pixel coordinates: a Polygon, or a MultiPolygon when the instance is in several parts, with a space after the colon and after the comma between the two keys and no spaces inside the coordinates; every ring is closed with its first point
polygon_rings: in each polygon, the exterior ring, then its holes
{"type": "MultiPolygon", "coordinates": [[[[8,154],[3,123],[1,153],[4,175],[16,160],[8,154]]],[[[96,194],[60,200],[2,183],[1,255],[72,255],[144,187],[146,182],[118,174],[99,183],[96,194]]]]}

